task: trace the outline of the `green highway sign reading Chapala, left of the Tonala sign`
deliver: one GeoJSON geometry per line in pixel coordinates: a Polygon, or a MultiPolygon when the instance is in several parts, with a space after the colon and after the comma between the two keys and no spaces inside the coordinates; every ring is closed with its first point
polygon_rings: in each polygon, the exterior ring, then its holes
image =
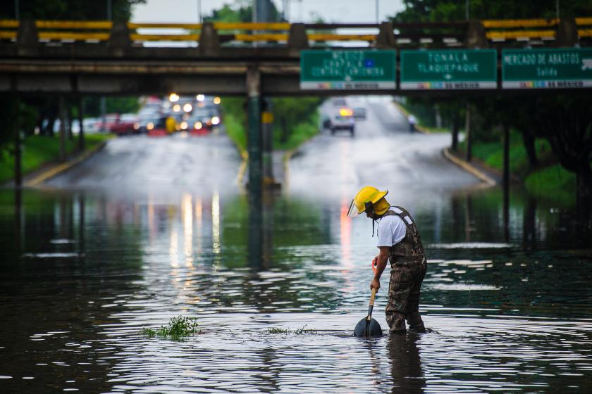
{"type": "Polygon", "coordinates": [[[301,51],[300,89],[395,89],[395,51],[301,51]]]}

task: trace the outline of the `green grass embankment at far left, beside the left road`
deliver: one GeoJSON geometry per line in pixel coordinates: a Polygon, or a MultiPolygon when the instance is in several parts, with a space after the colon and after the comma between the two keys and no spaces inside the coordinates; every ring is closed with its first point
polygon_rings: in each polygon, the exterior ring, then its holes
{"type": "MultiPolygon", "coordinates": [[[[89,134],[85,136],[85,147],[93,148],[106,139],[106,134],[89,134]]],[[[68,154],[75,152],[78,139],[66,141],[68,154]]],[[[5,146],[0,150],[0,182],[8,182],[14,177],[14,147],[5,146]]],[[[27,136],[23,141],[23,174],[38,170],[45,164],[56,162],[60,157],[60,139],[58,136],[27,136]]]]}

